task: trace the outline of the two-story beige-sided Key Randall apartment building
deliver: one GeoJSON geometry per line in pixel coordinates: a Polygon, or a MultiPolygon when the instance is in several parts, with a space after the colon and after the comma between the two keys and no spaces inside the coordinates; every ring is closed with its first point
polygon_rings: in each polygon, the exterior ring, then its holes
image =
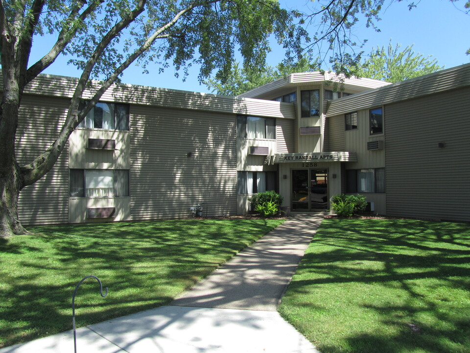
{"type": "MultiPolygon", "coordinates": [[[[47,148],[75,78],[25,91],[19,162],[47,148]]],[[[85,99],[91,97],[93,85],[85,99]]],[[[292,211],[360,193],[378,214],[470,221],[470,65],[389,84],[292,74],[238,97],[118,84],[21,192],[24,225],[250,211],[277,190],[292,211]]]]}

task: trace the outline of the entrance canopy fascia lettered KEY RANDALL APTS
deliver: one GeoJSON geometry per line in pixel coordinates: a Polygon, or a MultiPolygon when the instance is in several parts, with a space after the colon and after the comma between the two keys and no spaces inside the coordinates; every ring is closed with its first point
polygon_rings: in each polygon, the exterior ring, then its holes
{"type": "Polygon", "coordinates": [[[357,162],[355,152],[277,153],[266,156],[264,164],[292,162],[357,162]]]}

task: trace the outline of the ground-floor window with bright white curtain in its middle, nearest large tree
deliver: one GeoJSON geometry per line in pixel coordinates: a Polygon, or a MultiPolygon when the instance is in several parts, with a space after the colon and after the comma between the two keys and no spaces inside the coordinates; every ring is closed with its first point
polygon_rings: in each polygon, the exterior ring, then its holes
{"type": "Polygon", "coordinates": [[[129,171],[118,169],[71,169],[70,196],[129,196],[129,171]]]}

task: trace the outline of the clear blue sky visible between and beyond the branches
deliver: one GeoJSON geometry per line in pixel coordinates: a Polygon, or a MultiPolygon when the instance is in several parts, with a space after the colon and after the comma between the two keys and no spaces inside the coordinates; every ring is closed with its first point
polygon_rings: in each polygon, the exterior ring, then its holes
{"type": "MultiPolygon", "coordinates": [[[[380,32],[372,28],[366,28],[365,24],[357,26],[353,35],[360,39],[368,39],[364,51],[370,52],[377,46],[388,46],[400,43],[404,49],[414,44],[413,50],[423,55],[432,55],[438,63],[445,68],[450,68],[470,62],[470,56],[465,52],[470,48],[470,15],[464,13],[466,0],[455,3],[449,0],[427,0],[419,2],[416,8],[408,10],[409,1],[391,1],[384,6],[380,14],[381,21],[378,23],[380,32]]],[[[312,2],[310,0],[281,0],[286,8],[296,7],[308,10],[312,2]]],[[[45,48],[51,45],[49,39],[38,38],[36,46],[45,48]]],[[[33,48],[31,62],[38,59],[41,53],[33,48]]],[[[283,53],[273,48],[268,56],[268,64],[275,66],[282,60],[283,53]]],[[[72,66],[67,65],[67,58],[60,56],[45,73],[63,76],[79,76],[79,72],[72,66]]],[[[154,73],[142,74],[139,67],[132,66],[126,70],[122,77],[123,83],[140,84],[162,88],[180,89],[194,92],[211,92],[205,85],[197,81],[198,69],[194,67],[183,82],[182,76],[174,76],[174,70],[166,69],[163,74],[158,74],[156,68],[154,73]]],[[[327,67],[325,67],[327,69],[327,67]]]]}

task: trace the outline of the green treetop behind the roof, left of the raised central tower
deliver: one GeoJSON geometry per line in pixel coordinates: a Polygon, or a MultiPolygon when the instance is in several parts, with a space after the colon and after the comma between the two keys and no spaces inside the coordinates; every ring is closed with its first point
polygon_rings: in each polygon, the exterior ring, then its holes
{"type": "Polygon", "coordinates": [[[293,65],[282,62],[276,67],[266,66],[262,70],[240,68],[239,63],[235,63],[227,80],[222,81],[214,76],[205,80],[204,83],[217,94],[237,96],[289,74],[315,71],[317,68],[316,63],[310,63],[307,58],[301,58],[293,65]]]}

